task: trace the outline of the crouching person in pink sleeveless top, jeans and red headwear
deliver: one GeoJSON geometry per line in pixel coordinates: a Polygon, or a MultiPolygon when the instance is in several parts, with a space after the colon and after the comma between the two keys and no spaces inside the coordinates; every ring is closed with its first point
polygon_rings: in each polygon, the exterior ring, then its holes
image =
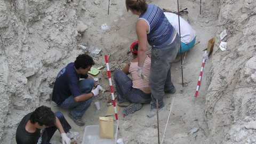
{"type": "MultiPolygon", "coordinates": [[[[116,70],[114,73],[114,82],[117,91],[117,105],[126,107],[123,110],[124,115],[133,114],[142,107],[141,103],[150,103],[151,92],[147,81],[143,81],[137,75],[138,71],[138,41],[132,43],[131,53],[133,60],[129,62],[123,70],[116,70]],[[127,76],[131,74],[132,79],[127,76]],[[131,105],[131,102],[135,103],[131,105]],[[129,107],[130,106],[130,107],[129,107]]],[[[151,55],[147,55],[143,65],[143,74],[148,77],[151,63],[151,55]]]]}

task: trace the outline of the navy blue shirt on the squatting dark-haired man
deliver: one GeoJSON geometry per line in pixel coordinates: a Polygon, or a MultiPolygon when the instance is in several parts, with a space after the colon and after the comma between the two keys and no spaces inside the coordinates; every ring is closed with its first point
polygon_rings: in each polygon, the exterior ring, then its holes
{"type": "Polygon", "coordinates": [[[60,105],[70,95],[77,97],[83,93],[79,90],[78,82],[80,78],[87,78],[88,75],[79,75],[74,67],[74,62],[62,68],[57,75],[52,92],[52,101],[60,105]]]}

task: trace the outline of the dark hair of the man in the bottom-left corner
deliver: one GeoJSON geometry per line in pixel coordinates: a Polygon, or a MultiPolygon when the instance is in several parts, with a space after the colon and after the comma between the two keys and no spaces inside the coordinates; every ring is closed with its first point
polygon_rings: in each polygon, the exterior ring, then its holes
{"type": "Polygon", "coordinates": [[[32,124],[38,123],[40,126],[54,126],[56,123],[55,115],[51,108],[41,106],[30,115],[29,118],[32,124]]]}

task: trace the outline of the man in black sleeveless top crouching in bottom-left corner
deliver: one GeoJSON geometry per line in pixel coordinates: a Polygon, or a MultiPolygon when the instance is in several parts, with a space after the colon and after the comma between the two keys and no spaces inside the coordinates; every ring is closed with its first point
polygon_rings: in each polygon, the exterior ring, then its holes
{"type": "Polygon", "coordinates": [[[70,144],[70,139],[79,135],[78,132],[69,131],[71,126],[60,111],[53,113],[51,108],[41,106],[22,118],[16,131],[16,142],[18,144],[49,144],[57,129],[61,133],[63,144],[70,144]]]}

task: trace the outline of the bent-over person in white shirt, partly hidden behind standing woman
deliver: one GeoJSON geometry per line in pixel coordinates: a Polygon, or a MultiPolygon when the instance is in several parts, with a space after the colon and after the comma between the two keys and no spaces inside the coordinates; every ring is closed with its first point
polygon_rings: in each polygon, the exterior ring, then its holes
{"type": "MultiPolygon", "coordinates": [[[[179,34],[179,17],[175,13],[164,12],[165,17],[175,28],[179,34]]],[[[180,17],[180,41],[181,41],[181,51],[186,52],[190,50],[196,42],[196,31],[189,25],[189,23],[180,17]]],[[[178,51],[180,53],[180,49],[178,51]]]]}

